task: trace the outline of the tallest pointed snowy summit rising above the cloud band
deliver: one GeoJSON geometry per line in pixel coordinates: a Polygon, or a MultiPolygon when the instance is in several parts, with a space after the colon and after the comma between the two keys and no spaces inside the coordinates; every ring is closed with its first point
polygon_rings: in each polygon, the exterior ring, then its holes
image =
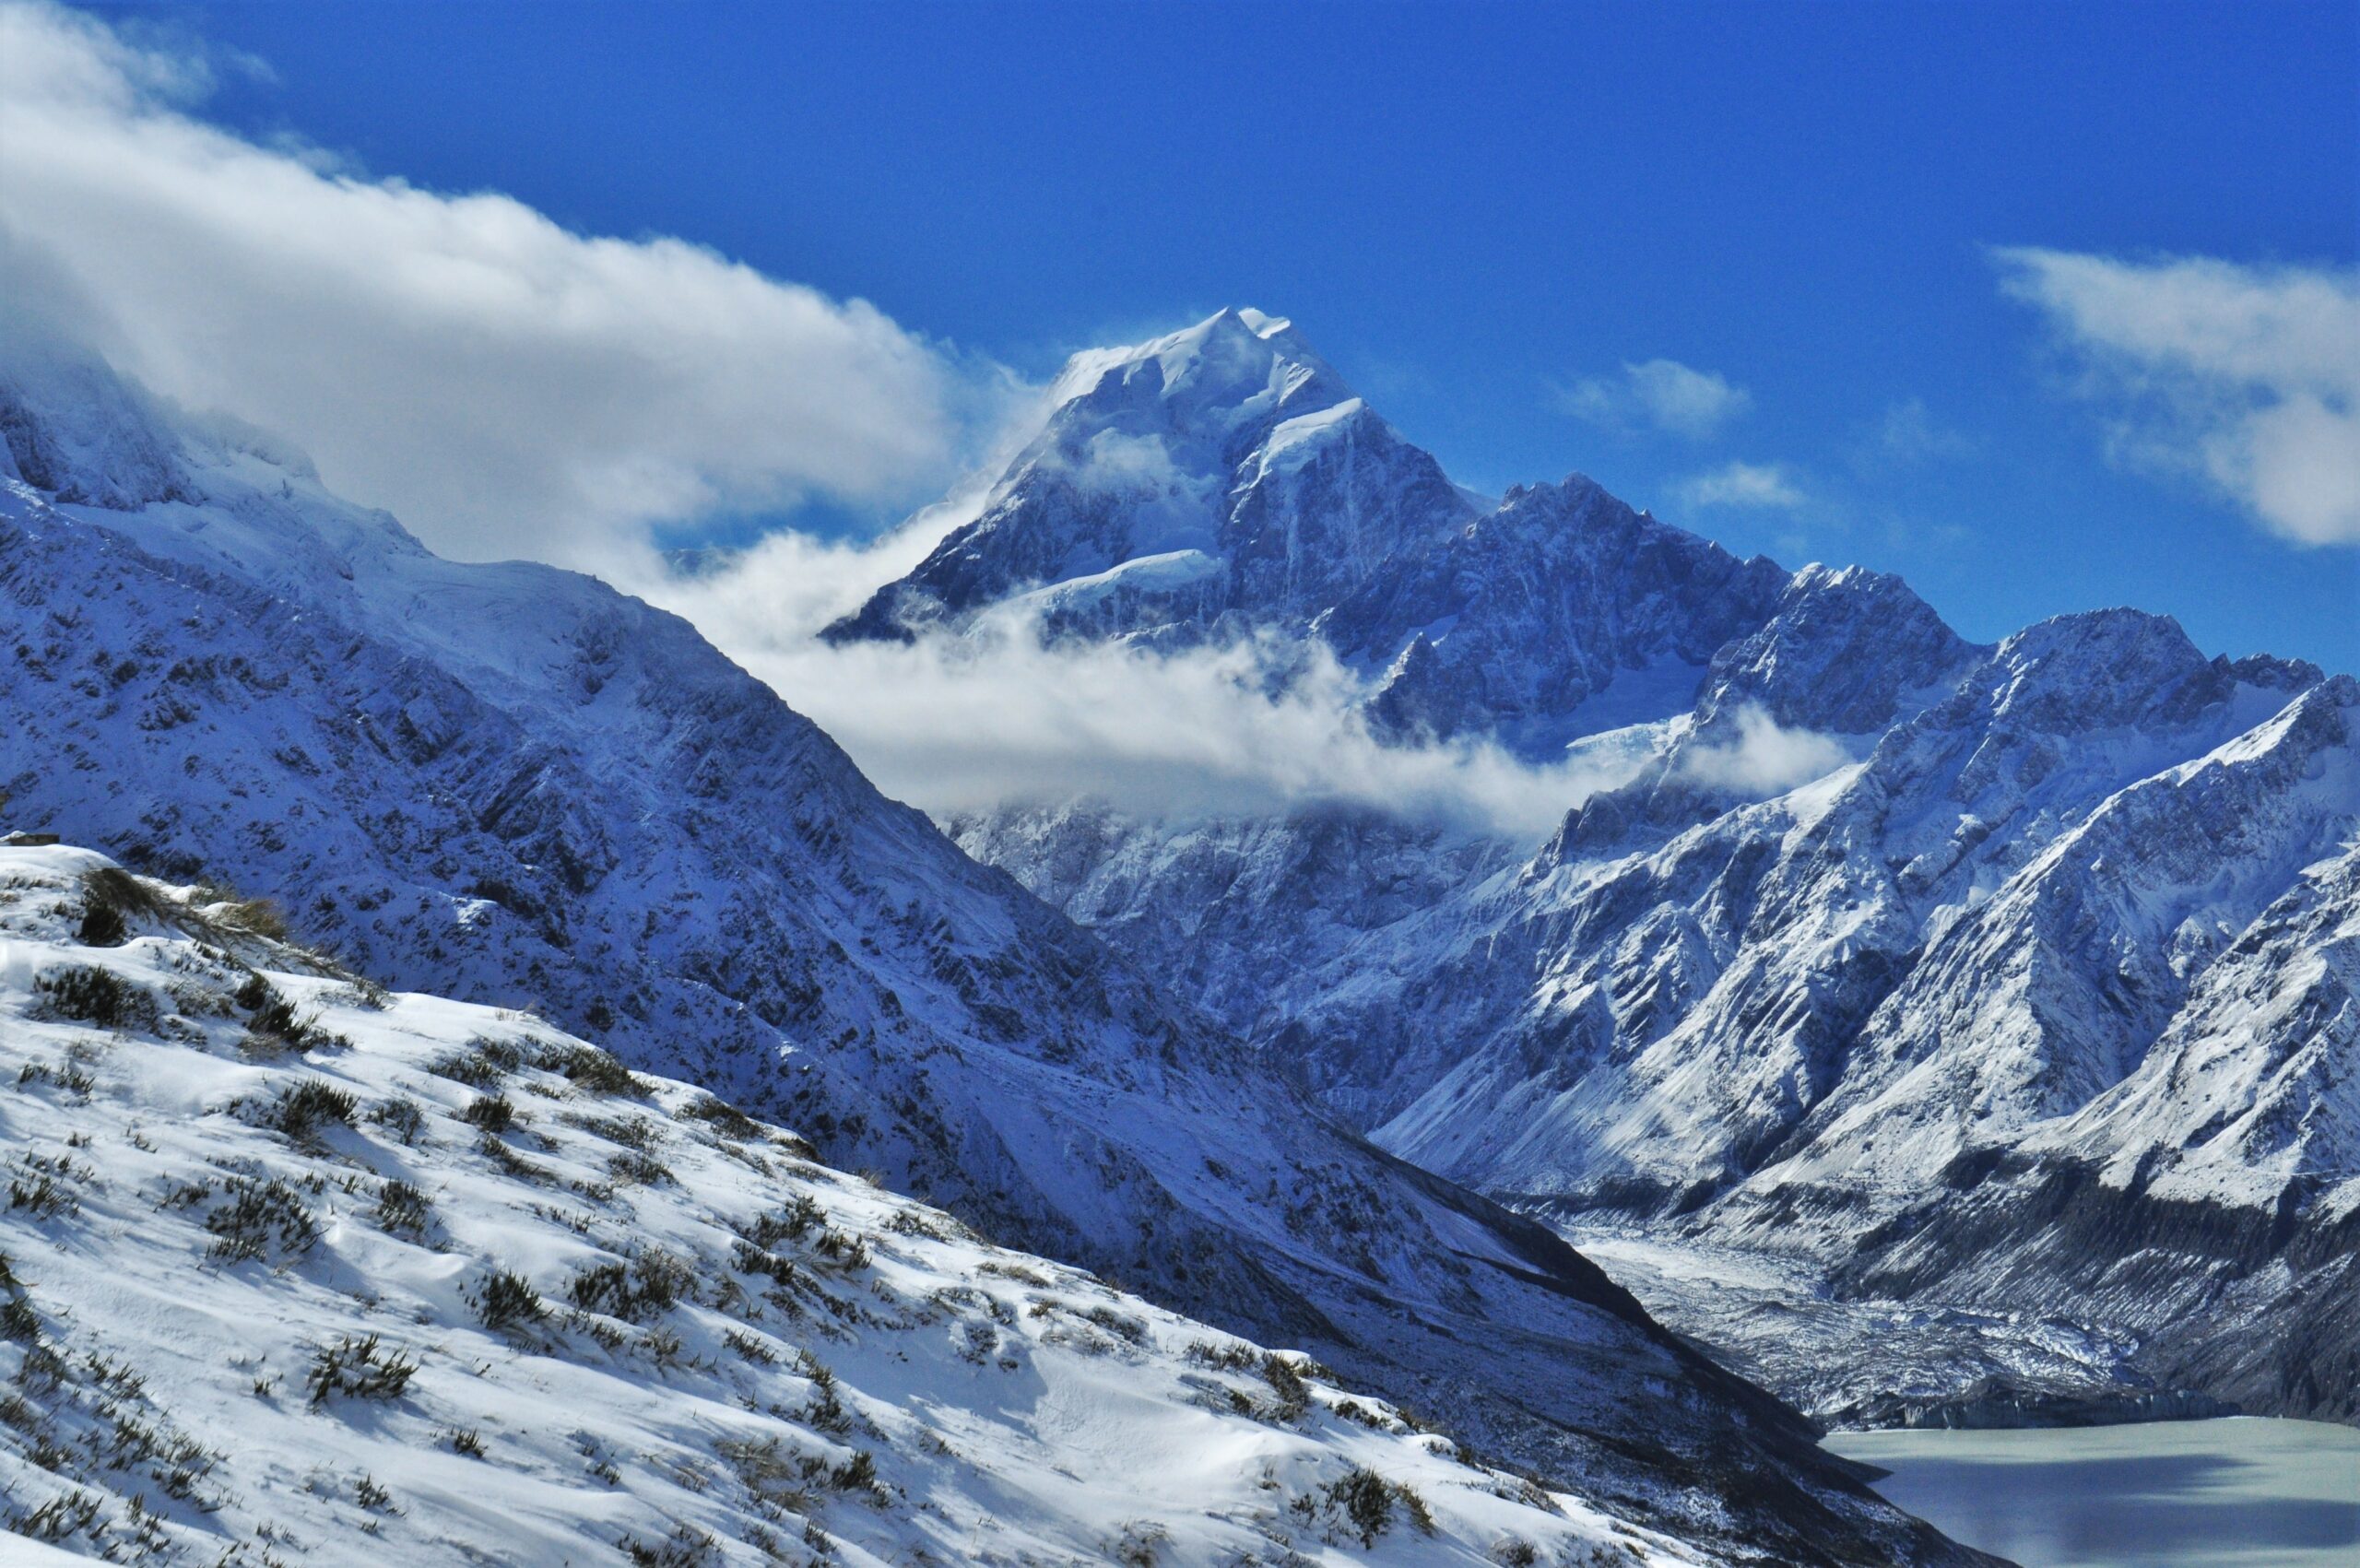
{"type": "Polygon", "coordinates": [[[828,640],[958,631],[994,607],[1048,635],[1300,631],[1475,515],[1430,453],[1258,309],[1074,354],[1048,404],[982,517],[828,640]]]}

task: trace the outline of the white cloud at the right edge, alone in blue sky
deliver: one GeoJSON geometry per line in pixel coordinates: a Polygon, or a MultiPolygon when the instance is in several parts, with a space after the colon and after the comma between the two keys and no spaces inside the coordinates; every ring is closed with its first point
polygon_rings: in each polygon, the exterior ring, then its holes
{"type": "Polygon", "coordinates": [[[2360,543],[2360,272],[1994,257],[2079,357],[2115,456],[2200,472],[2287,538],[2360,543]]]}

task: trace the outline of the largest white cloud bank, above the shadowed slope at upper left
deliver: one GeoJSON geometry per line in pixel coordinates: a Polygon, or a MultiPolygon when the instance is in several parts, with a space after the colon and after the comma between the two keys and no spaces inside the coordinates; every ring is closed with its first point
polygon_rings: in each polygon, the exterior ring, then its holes
{"type": "Polygon", "coordinates": [[[293,437],[448,555],[602,564],[710,512],[902,508],[998,416],[1001,375],[866,302],[248,142],[191,113],[208,83],[0,5],[0,239],[64,264],[123,371],[293,437]]]}

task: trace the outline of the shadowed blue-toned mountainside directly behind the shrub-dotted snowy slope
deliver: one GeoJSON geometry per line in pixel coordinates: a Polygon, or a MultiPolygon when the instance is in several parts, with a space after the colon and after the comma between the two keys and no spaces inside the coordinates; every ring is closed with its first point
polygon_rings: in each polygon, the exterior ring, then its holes
{"type": "Polygon", "coordinates": [[[14,827],[276,895],[359,973],[531,1008],[1699,1551],[1968,1561],[1555,1233],[1340,1129],[878,796],[684,621],[439,560],[87,357],[0,366],[0,437],[14,827]]]}

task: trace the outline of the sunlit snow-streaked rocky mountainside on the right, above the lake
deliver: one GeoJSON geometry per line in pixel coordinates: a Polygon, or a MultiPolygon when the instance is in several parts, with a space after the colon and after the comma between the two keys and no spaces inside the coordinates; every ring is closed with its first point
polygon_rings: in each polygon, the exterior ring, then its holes
{"type": "Polygon", "coordinates": [[[2103,1377],[1909,1400],[1853,1367],[1860,1403],[1779,1384],[1829,1417],[2181,1389],[2348,1417],[2313,1325],[2351,1320],[2360,1254],[2355,753],[2351,678],[2204,661],[2145,616],[2034,628],[1860,770],[1534,862],[1442,966],[1484,1006],[1517,942],[1517,1018],[1454,1013],[1484,1044],[1378,1138],[1565,1216],[1815,1261],[1838,1294],[2131,1344],[2103,1377]]]}

